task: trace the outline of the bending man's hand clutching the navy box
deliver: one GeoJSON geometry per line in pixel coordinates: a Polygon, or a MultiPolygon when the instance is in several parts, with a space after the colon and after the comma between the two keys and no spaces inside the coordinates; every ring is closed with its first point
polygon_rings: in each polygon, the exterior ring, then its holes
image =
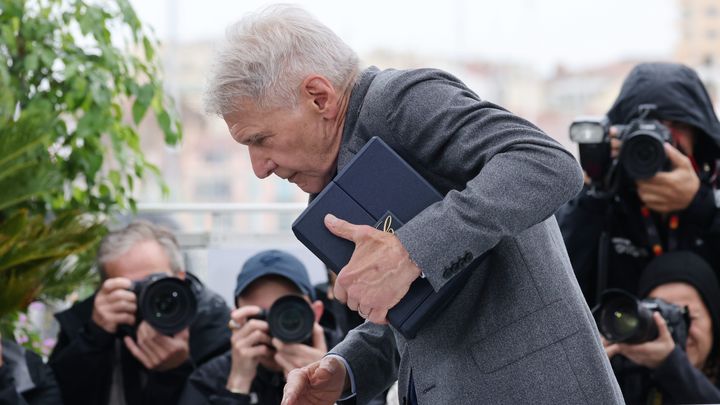
{"type": "Polygon", "coordinates": [[[355,243],[350,262],[338,275],[335,297],[353,311],[362,309],[373,323],[386,324],[387,311],[395,306],[420,276],[397,237],[367,225],[325,216],[334,235],[355,243]]]}

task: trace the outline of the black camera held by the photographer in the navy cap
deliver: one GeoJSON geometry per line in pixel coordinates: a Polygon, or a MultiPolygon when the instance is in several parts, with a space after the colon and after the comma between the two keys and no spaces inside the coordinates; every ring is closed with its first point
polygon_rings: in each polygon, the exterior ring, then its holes
{"type": "Polygon", "coordinates": [[[266,321],[270,336],[285,343],[305,343],[312,346],[315,312],[301,295],[289,294],[273,302],[269,310],[262,310],[249,319],[266,321]]]}

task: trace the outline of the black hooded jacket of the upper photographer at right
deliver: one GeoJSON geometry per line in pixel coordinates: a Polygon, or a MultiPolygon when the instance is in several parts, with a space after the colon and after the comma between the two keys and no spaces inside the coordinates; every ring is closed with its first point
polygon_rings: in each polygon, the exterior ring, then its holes
{"type": "MultiPolygon", "coordinates": [[[[676,250],[693,251],[720,271],[720,215],[718,215],[718,159],[720,122],[697,75],[677,64],[642,64],[625,80],[608,112],[611,124],[627,124],[638,115],[640,104],[655,104],[652,117],[692,125],[697,129],[693,150],[699,168],[700,189],[690,205],[678,213],[679,227],[672,239],[676,250]]],[[[720,195],[718,195],[720,197],[720,195]]],[[[607,288],[637,293],[643,268],[653,257],[641,202],[630,182],[613,193],[593,193],[589,187],[561,207],[560,229],[580,287],[588,304],[597,303],[598,260],[607,276],[607,288]]],[[[669,217],[652,214],[652,222],[667,251],[669,217]]]]}

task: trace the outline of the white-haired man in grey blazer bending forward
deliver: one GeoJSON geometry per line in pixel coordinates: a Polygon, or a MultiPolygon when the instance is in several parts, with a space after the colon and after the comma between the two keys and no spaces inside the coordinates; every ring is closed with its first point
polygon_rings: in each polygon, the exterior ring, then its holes
{"type": "Polygon", "coordinates": [[[440,70],[361,69],[291,6],[230,28],[207,106],[261,179],[315,195],[377,136],[444,195],[394,234],[325,218],[355,244],[335,296],[368,322],[292,371],[284,403],[366,403],[395,379],[403,404],[623,402],[552,216],[582,172],[537,127],[440,70]],[[437,291],[486,253],[415,338],[387,324],[418,277],[437,291]]]}

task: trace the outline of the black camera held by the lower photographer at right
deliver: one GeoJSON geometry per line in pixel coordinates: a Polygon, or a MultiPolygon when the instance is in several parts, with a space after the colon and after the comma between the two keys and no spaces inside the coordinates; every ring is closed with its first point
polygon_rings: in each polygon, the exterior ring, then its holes
{"type": "Polygon", "coordinates": [[[600,333],[611,343],[643,343],[658,337],[653,312],[665,319],[676,344],[685,350],[690,315],[687,307],[670,304],[659,298],[639,300],[618,289],[604,291],[593,315],[600,333]]]}

